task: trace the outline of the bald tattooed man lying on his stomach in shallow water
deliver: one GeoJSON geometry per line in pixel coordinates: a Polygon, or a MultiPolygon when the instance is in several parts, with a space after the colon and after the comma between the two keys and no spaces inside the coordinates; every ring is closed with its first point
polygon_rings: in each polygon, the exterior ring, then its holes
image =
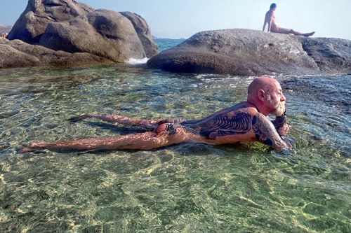
{"type": "Polygon", "coordinates": [[[144,127],[149,132],[77,141],[33,142],[18,153],[40,148],[72,148],[76,150],[139,149],[152,150],[178,143],[207,143],[220,145],[239,141],[260,141],[274,149],[290,149],[285,139],[290,126],[286,120],[285,97],[277,80],[259,77],[248,88],[247,101],[225,108],[200,120],[169,118],[165,120],[141,120],[121,115],[82,114],[74,118],[98,118],[123,125],[144,127]],[[276,115],[272,122],[268,114],[276,115]]]}

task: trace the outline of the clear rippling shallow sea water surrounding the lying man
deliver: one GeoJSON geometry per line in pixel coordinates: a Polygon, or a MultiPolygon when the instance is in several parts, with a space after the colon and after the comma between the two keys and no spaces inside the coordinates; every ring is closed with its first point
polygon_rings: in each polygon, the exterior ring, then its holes
{"type": "Polygon", "coordinates": [[[0,71],[0,232],[351,232],[351,81],[277,76],[295,149],[180,144],[16,154],[30,141],[143,132],[81,113],[201,118],[253,77],[145,65],[0,71]]]}

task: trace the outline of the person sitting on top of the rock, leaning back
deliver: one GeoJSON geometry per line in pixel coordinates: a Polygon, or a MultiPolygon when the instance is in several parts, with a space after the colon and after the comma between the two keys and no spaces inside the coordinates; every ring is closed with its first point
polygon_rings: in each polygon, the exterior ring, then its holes
{"type": "Polygon", "coordinates": [[[268,32],[276,32],[276,33],[282,33],[282,34],[294,34],[297,36],[312,36],[314,34],[314,31],[310,33],[302,33],[299,31],[295,31],[293,29],[287,29],[284,27],[279,27],[277,20],[275,19],[274,16],[274,11],[277,9],[277,4],[272,3],[270,5],[270,10],[265,13],[265,23],[263,24],[263,31],[265,31],[265,25],[268,24],[268,32]]]}

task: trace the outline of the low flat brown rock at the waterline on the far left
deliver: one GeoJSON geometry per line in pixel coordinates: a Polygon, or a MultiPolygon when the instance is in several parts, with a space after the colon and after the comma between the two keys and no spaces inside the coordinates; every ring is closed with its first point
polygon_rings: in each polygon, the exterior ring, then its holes
{"type": "Polygon", "coordinates": [[[56,52],[39,45],[29,45],[20,40],[8,41],[6,38],[0,38],[0,69],[96,62],[110,61],[88,53],[56,52]]]}

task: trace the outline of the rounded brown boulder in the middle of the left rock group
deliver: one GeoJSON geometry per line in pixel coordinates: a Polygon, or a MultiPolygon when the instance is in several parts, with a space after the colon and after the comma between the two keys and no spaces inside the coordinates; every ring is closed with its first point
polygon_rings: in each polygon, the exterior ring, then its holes
{"type": "Polygon", "coordinates": [[[146,57],[131,21],[112,10],[95,10],[65,22],[52,22],[39,44],[52,50],[88,52],[114,62],[146,57]]]}

